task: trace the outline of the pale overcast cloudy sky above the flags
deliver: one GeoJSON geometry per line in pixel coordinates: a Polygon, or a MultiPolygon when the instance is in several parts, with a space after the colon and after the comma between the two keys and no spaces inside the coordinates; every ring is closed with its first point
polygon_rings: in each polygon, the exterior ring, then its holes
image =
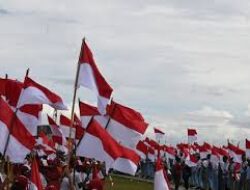
{"type": "MultiPolygon", "coordinates": [[[[250,138],[248,0],[0,0],[0,77],[30,77],[69,107],[82,38],[113,87],[166,142],[250,138]]],[[[93,94],[78,91],[94,103],[93,94]]]]}

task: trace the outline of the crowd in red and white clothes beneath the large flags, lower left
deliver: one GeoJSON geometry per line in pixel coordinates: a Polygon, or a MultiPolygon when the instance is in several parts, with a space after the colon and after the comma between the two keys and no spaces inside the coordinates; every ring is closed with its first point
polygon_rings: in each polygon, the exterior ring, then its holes
{"type": "Polygon", "coordinates": [[[39,157],[29,155],[23,164],[1,162],[0,189],[36,190],[31,180],[32,162],[38,164],[42,188],[45,190],[103,190],[105,165],[93,159],[56,154],[39,157]]]}

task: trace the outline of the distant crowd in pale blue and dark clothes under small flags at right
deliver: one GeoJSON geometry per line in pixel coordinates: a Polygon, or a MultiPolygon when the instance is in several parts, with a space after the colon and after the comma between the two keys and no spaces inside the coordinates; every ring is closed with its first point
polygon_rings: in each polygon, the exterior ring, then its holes
{"type": "MultiPolygon", "coordinates": [[[[190,165],[183,155],[165,161],[168,178],[174,184],[174,189],[180,186],[200,190],[250,190],[250,159],[242,155],[242,162],[237,163],[232,157],[224,156],[215,163],[211,154],[206,158],[195,155],[196,164],[190,165]]],[[[142,178],[152,179],[154,164],[149,159],[143,161],[140,167],[142,178]]]]}

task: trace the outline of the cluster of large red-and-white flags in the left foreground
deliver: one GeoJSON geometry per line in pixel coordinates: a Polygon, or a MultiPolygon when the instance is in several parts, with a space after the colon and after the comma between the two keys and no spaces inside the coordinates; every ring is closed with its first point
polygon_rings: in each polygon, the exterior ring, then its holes
{"type": "Polygon", "coordinates": [[[37,134],[39,115],[43,104],[55,110],[67,110],[63,99],[31,79],[28,72],[23,82],[7,76],[0,78],[0,152],[11,162],[20,163],[34,150],[50,154],[58,146],[67,149],[67,138],[73,138],[77,156],[95,158],[105,162],[107,169],[134,175],[141,159],[136,147],[148,124],[134,109],[110,102],[113,89],[97,68],[85,40],[78,61],[75,92],[80,86],[96,94],[97,106],[79,101],[80,119],[73,109],[74,116],[61,115],[59,125],[48,116],[52,131],[49,139],[44,133],[37,134]]]}

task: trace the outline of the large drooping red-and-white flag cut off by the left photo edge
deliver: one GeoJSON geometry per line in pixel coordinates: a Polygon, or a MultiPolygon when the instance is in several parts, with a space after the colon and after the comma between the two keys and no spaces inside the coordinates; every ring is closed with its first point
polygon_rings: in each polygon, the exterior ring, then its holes
{"type": "Polygon", "coordinates": [[[0,152],[14,163],[23,162],[35,146],[35,139],[16,117],[9,105],[0,97],[0,152]],[[9,136],[10,134],[10,136],[9,136]],[[9,142],[7,139],[9,136],[9,142]]]}

